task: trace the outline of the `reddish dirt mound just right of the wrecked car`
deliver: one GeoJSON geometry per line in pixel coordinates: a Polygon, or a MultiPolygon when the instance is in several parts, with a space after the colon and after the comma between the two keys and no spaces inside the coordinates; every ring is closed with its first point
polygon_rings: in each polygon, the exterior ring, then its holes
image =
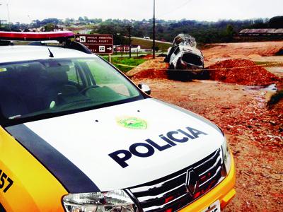
{"type": "Polygon", "coordinates": [[[228,59],[209,66],[212,80],[246,86],[267,86],[279,78],[248,59],[228,59]]]}

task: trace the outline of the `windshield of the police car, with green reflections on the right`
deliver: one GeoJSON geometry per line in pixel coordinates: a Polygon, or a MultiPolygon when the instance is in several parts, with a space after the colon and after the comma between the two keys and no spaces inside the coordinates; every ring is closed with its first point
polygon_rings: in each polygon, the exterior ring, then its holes
{"type": "Polygon", "coordinates": [[[1,119],[8,122],[144,98],[122,74],[95,57],[0,64],[0,97],[1,119]]]}

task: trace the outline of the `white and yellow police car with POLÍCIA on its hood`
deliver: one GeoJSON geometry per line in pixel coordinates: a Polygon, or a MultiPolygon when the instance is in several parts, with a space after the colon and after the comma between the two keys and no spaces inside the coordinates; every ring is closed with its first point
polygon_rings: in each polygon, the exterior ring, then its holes
{"type": "Polygon", "coordinates": [[[224,208],[236,192],[221,129],[73,38],[0,33],[0,211],[224,208]]]}

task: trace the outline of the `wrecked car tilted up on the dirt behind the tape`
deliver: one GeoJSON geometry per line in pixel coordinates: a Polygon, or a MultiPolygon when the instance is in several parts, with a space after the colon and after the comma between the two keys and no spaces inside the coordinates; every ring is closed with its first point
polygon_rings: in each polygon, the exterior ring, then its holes
{"type": "Polygon", "coordinates": [[[197,49],[195,38],[190,35],[180,34],[175,37],[164,61],[169,64],[169,78],[190,80],[204,73],[204,57],[197,49]]]}

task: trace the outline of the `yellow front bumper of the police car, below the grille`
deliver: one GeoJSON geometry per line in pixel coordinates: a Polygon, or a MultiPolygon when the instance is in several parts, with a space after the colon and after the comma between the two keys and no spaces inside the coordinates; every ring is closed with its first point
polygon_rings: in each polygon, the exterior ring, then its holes
{"type": "Polygon", "coordinates": [[[236,190],[234,189],[236,184],[236,172],[233,156],[231,154],[231,170],[214,189],[207,194],[204,194],[200,199],[194,201],[192,204],[181,209],[180,212],[187,211],[202,211],[213,204],[216,200],[220,201],[221,208],[224,208],[229,201],[235,196],[236,190]]]}

